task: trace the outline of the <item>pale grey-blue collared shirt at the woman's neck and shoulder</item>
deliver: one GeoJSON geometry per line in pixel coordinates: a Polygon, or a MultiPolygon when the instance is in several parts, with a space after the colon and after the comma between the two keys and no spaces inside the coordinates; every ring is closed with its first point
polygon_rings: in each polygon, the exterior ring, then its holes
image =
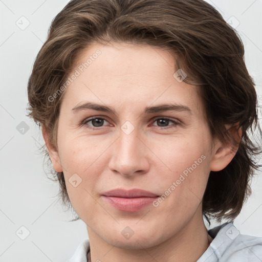
{"type": "MultiPolygon", "coordinates": [[[[262,262],[262,237],[243,235],[233,222],[208,230],[213,241],[197,262],[262,262]]],[[[90,262],[86,238],[67,262],[90,262]]]]}

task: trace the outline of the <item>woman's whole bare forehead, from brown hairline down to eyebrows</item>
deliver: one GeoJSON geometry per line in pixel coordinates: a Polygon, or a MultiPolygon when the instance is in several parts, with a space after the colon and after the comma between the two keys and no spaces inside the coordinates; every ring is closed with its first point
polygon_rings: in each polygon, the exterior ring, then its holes
{"type": "Polygon", "coordinates": [[[114,107],[132,101],[133,107],[176,102],[199,108],[196,87],[174,77],[175,65],[174,56],[164,49],[93,43],[79,54],[69,74],[77,77],[63,99],[72,108],[83,100],[114,104],[114,107]]]}

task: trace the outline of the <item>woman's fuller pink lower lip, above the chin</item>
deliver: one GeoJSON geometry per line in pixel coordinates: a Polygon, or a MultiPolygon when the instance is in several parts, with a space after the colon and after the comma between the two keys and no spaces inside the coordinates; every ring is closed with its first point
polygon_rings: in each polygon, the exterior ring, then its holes
{"type": "Polygon", "coordinates": [[[116,209],[126,212],[138,211],[150,205],[152,202],[158,199],[158,197],[118,198],[118,197],[106,197],[105,195],[102,195],[102,197],[107,203],[111,204],[116,209]]]}

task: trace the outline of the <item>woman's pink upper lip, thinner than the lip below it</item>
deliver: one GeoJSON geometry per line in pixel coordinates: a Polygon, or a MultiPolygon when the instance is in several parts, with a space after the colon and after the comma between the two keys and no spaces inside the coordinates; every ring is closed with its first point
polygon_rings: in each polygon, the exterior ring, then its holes
{"type": "Polygon", "coordinates": [[[102,195],[105,195],[106,197],[119,197],[119,198],[143,198],[143,197],[159,197],[159,195],[143,190],[143,189],[121,189],[121,188],[116,188],[110,191],[104,192],[102,195]]]}

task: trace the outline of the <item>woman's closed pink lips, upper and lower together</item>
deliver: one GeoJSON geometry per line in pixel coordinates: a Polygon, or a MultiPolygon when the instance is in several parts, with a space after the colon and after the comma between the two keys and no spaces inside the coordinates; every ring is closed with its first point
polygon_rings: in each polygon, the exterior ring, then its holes
{"type": "Polygon", "coordinates": [[[102,194],[106,203],[125,212],[138,211],[157,200],[158,197],[159,195],[142,189],[124,190],[117,188],[102,194]]]}

